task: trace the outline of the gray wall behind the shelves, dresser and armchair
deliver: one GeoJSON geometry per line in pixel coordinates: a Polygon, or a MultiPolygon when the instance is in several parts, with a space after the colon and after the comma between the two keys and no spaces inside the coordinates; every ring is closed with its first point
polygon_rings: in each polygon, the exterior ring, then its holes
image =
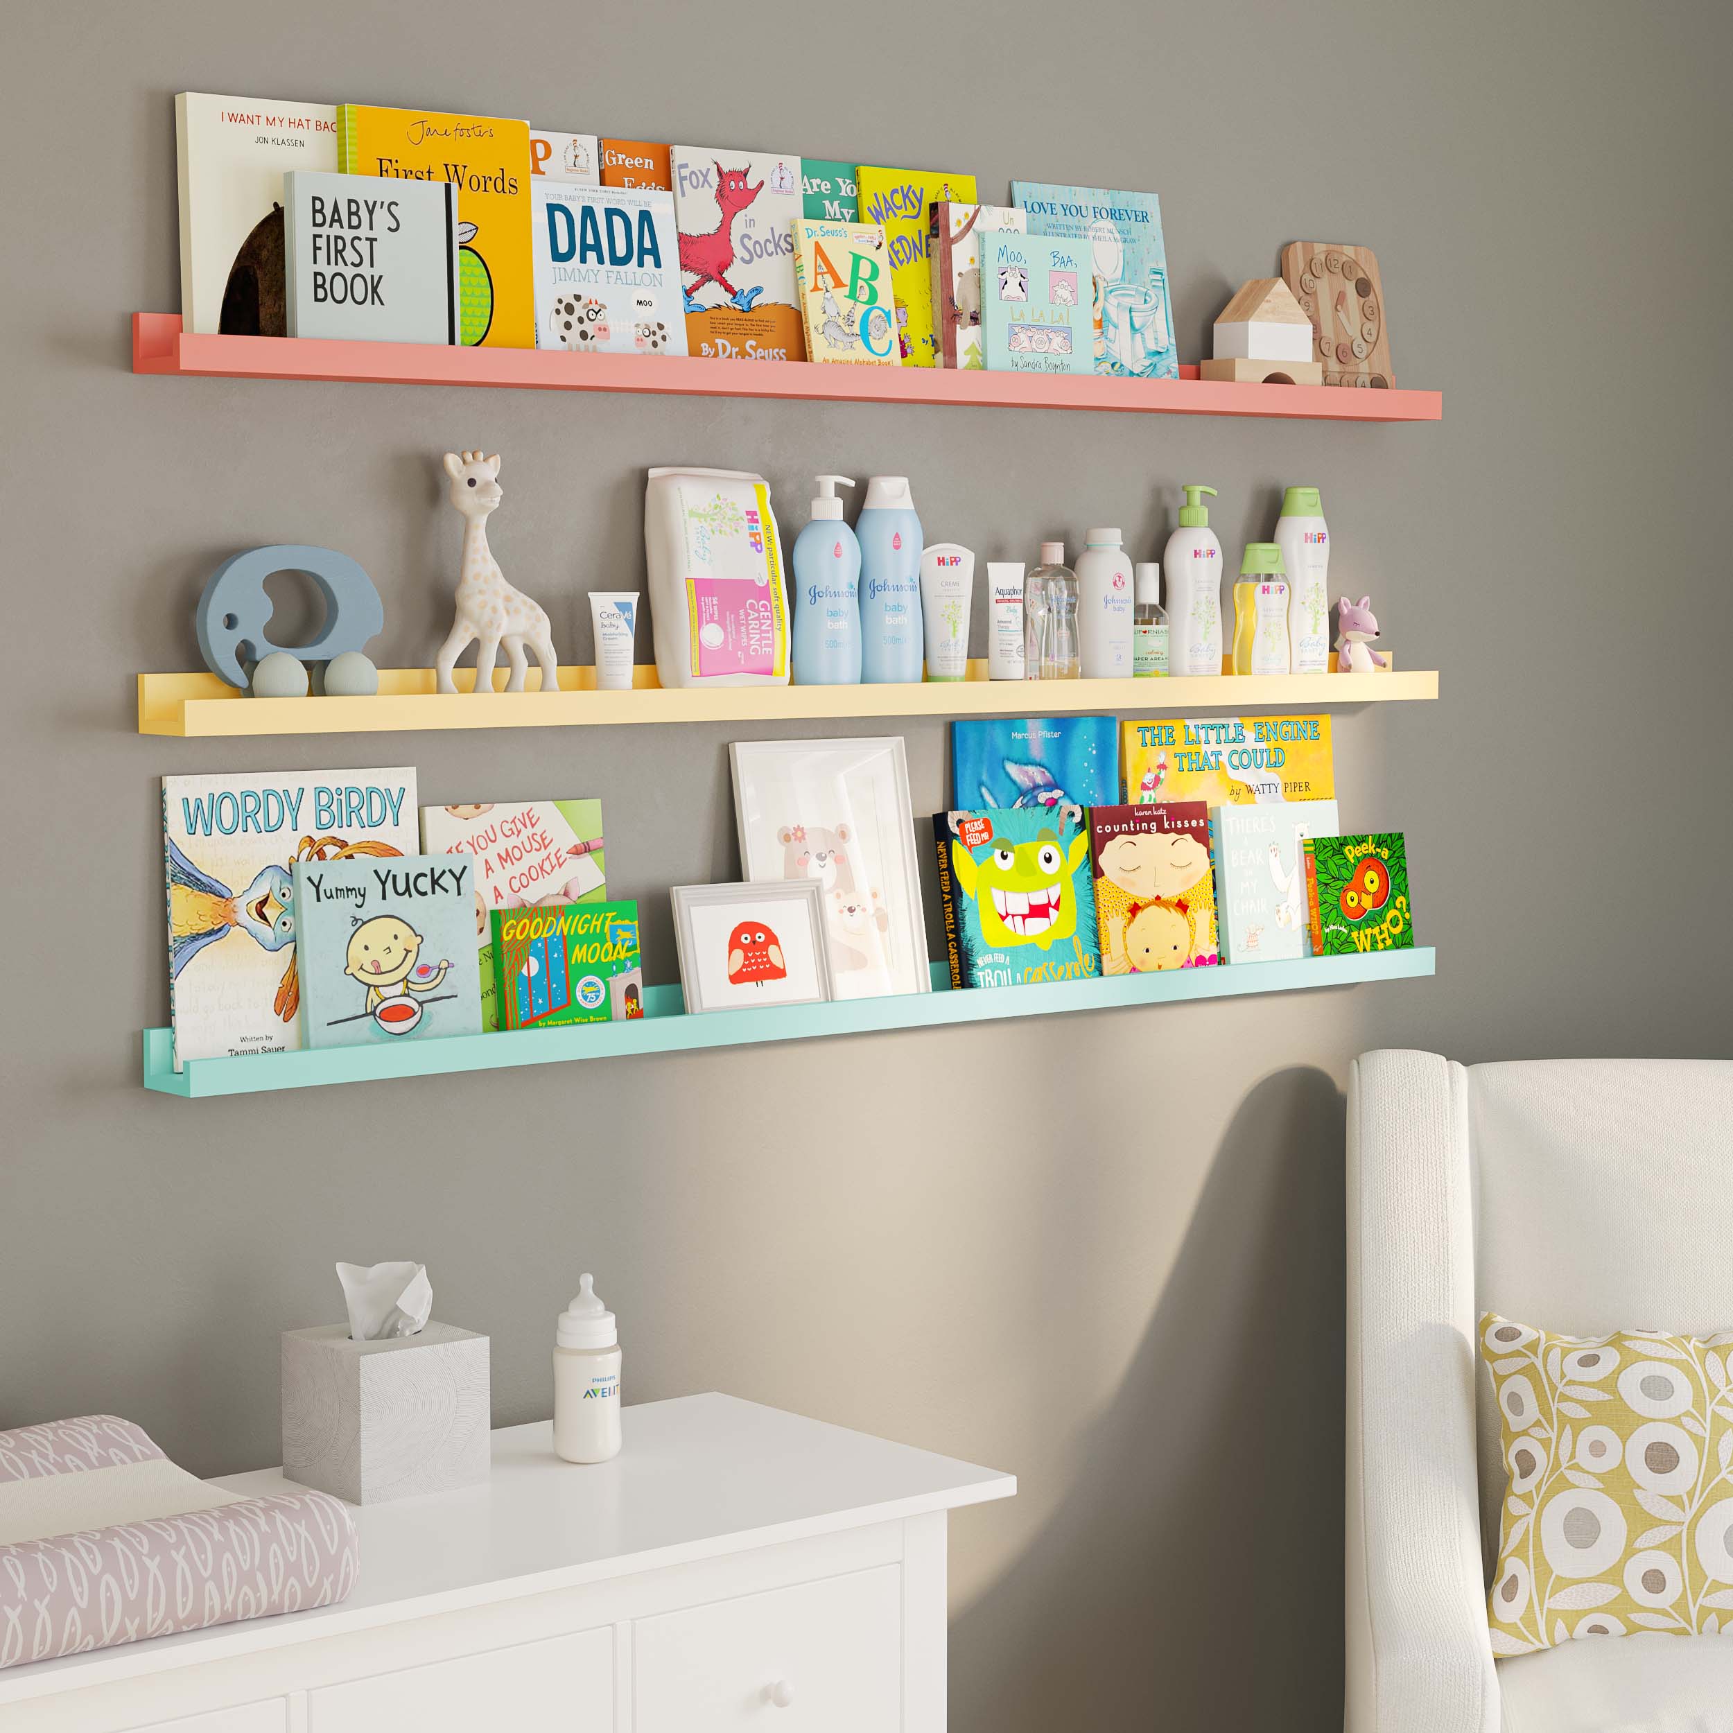
{"type": "MultiPolygon", "coordinates": [[[[114,1409],[201,1473],[277,1461],[276,1334],[333,1258],[425,1258],[549,1411],[594,1269],[634,1400],[723,1388],[1014,1470],[953,1535],[960,1730],[1336,1724],[1341,1085],[1352,1055],[1724,1054],[1724,7],[991,14],[5,5],[9,910],[0,1426],[114,1409]],[[990,26],[986,21],[993,19],[990,26]],[[97,28],[97,19],[101,26],[97,28]],[[965,21],[967,19],[967,21],[965,21]],[[870,40],[870,36],[868,36],[870,40]],[[892,73],[894,68],[894,73],[892,73]],[[879,94],[873,94],[873,85],[879,94]],[[1438,426],[146,380],[177,291],[172,95],[471,107],[1161,192],[1182,352],[1284,241],[1376,246],[1438,426]],[[139,1087],[166,1014],[156,778],[412,763],[430,801],[600,794],[671,979],[669,884],[738,872],[721,728],[147,740],[211,567],[355,555],[385,664],[449,620],[435,458],[504,452],[494,548],[589,659],[643,471],[906,471],[984,556],[1177,484],[1237,549],[1317,482],[1334,575],[1444,700],[1343,714],[1345,821],[1409,832],[1438,977],[799,1048],[243,1100],[139,1087]],[[1710,612],[1716,610],[1716,612],[1710,612]],[[1679,854],[1674,856],[1672,851],[1679,854]],[[1627,872],[1626,861],[1634,856],[1627,872]],[[1671,865],[1669,865],[1671,863],[1671,865]],[[1301,1705],[1305,1705],[1301,1709],[1301,1705]]],[[[789,733],[801,730],[790,728],[789,733]]],[[[861,731],[873,731],[865,724],[861,731]]],[[[775,730],[754,730],[775,733],[775,730]]],[[[906,730],[915,809],[944,799],[906,730]]]]}

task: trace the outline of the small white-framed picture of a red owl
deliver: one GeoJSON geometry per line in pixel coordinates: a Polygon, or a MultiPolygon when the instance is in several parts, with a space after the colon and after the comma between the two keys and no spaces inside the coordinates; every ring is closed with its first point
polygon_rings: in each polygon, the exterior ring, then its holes
{"type": "Polygon", "coordinates": [[[816,880],[681,884],[669,898],[688,1012],[818,1005],[832,998],[823,889],[816,880]]]}

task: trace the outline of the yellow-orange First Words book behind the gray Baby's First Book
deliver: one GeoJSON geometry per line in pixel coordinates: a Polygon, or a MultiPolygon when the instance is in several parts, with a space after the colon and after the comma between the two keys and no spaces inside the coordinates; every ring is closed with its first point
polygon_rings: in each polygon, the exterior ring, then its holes
{"type": "Polygon", "coordinates": [[[463,341],[534,348],[529,125],[357,102],[336,111],[336,166],[345,175],[440,180],[458,189],[463,341]]]}

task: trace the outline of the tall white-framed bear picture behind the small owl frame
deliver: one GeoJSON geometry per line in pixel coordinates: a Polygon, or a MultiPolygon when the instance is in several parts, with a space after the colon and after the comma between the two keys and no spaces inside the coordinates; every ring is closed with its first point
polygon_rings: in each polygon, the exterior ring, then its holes
{"type": "Polygon", "coordinates": [[[737,740],[728,761],[742,877],[821,886],[834,996],[931,993],[901,737],[737,740]]]}

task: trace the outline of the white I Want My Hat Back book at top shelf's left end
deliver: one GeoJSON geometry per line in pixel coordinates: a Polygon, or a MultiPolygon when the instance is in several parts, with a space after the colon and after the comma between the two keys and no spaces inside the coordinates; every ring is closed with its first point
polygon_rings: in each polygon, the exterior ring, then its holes
{"type": "Polygon", "coordinates": [[[182,329],[284,336],[282,177],[336,170],[336,109],[185,90],[175,166],[182,329]]]}

